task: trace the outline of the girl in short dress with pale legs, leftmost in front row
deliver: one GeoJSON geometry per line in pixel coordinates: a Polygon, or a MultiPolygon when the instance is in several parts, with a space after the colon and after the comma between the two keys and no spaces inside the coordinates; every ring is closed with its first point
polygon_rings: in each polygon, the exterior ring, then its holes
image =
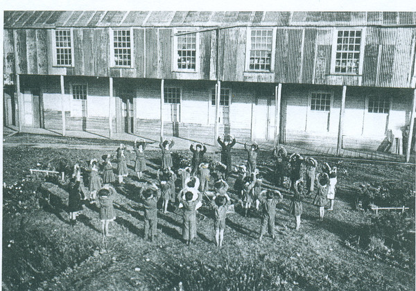
{"type": "Polygon", "coordinates": [[[109,231],[110,222],[116,219],[114,215],[113,199],[116,194],[114,189],[109,184],[106,184],[98,191],[98,202],[100,206],[100,220],[101,229],[103,230],[103,239],[108,236],[112,236],[109,231]]]}

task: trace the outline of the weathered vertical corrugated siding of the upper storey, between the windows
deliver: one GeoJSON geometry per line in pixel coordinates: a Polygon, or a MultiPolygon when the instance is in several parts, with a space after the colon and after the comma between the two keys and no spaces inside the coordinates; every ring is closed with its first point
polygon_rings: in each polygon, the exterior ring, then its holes
{"type": "MultiPolygon", "coordinates": [[[[73,28],[73,67],[53,65],[53,30],[4,30],[5,72],[178,80],[216,80],[216,30],[199,33],[199,70],[173,71],[173,28],[134,28],[133,67],[110,64],[110,28],[73,28]],[[8,49],[17,46],[17,56],[8,49]]],[[[275,66],[270,73],[245,71],[246,27],[220,30],[218,78],[229,82],[269,82],[365,87],[411,87],[415,28],[368,27],[363,75],[331,74],[333,30],[323,27],[276,28],[275,66]]]]}

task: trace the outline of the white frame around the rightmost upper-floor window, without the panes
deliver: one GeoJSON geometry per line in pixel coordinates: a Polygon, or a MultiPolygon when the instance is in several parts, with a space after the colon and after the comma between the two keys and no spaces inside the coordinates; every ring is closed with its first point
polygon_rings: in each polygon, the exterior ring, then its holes
{"type": "Polygon", "coordinates": [[[364,61],[364,49],[365,49],[365,37],[367,35],[367,28],[358,26],[358,27],[338,27],[333,29],[332,35],[332,48],[331,48],[331,75],[341,75],[341,76],[362,76],[363,75],[363,61],[364,61]],[[358,73],[342,73],[336,72],[336,46],[338,44],[338,31],[340,30],[361,30],[361,42],[360,42],[360,57],[358,58],[358,73]]]}

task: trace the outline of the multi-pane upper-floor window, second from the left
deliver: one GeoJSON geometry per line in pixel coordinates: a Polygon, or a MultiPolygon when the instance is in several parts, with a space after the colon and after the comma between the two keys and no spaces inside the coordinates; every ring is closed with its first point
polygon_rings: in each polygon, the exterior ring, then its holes
{"type": "Polygon", "coordinates": [[[130,29],[112,30],[113,66],[132,66],[132,39],[130,29]]]}

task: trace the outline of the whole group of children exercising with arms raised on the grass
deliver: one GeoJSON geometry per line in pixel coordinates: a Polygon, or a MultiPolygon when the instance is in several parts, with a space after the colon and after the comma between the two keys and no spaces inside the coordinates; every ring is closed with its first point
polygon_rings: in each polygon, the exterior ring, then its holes
{"type": "MultiPolygon", "coordinates": [[[[207,148],[202,143],[192,144],[189,148],[192,152],[192,161],[189,166],[177,170],[177,175],[173,170],[172,147],[174,142],[169,139],[161,138],[159,148],[162,150],[162,167],[157,171],[157,184],[146,182],[139,189],[139,197],[144,206],[144,236],[153,240],[157,230],[157,206],[159,200],[162,200],[162,210],[168,211],[169,203],[182,209],[182,238],[187,245],[192,243],[196,237],[196,213],[202,206],[202,195],[207,197],[209,205],[214,214],[214,229],[216,245],[221,247],[223,244],[225,218],[232,200],[227,191],[229,185],[227,179],[233,172],[232,168],[232,147],[236,139],[232,136],[225,136],[224,139],[218,137],[218,143],[221,150],[221,161],[205,160],[207,148]],[[179,178],[182,180],[182,188],[176,194],[175,182],[179,178]],[[211,187],[212,186],[212,187],[211,187]],[[209,191],[213,190],[213,191],[209,191]]],[[[239,199],[234,200],[234,204],[241,204],[245,216],[248,216],[252,204],[255,202],[255,208],[261,213],[261,240],[266,232],[275,238],[275,213],[277,204],[281,201],[282,195],[277,190],[263,190],[262,176],[257,168],[257,155],[259,145],[257,143],[245,143],[245,150],[248,154],[248,160],[245,165],[239,165],[234,168],[237,172],[237,178],[234,183],[234,191],[239,199]]],[[[136,140],[133,150],[136,154],[135,173],[139,180],[144,180],[146,171],[146,142],[136,140]]],[[[119,184],[123,183],[123,177],[128,175],[126,162],[126,147],[121,144],[116,150],[116,173],[119,177],[119,184]]],[[[336,168],[331,169],[327,163],[323,166],[323,173],[316,175],[318,162],[311,157],[303,158],[298,154],[287,157],[287,151],[280,147],[275,148],[272,152],[275,157],[276,170],[275,182],[277,186],[283,186],[288,182],[293,191],[293,197],[289,211],[295,215],[296,229],[300,227],[300,216],[302,215],[302,200],[305,195],[310,195],[317,186],[317,192],[313,204],[318,206],[320,219],[324,217],[324,206],[327,199],[331,201],[333,209],[333,199],[336,185],[336,168]],[[289,180],[285,179],[286,166],[290,166],[289,180]],[[306,168],[304,174],[303,168],[306,168]],[[304,187],[306,186],[306,193],[304,187]]],[[[111,185],[115,182],[113,166],[111,163],[112,155],[103,156],[102,182],[98,175],[100,165],[93,159],[90,162],[87,172],[89,173],[88,195],[83,195],[81,184],[80,166],[76,164],[73,172],[73,187],[69,191],[69,206],[71,221],[76,220],[76,214],[82,209],[81,199],[90,203],[98,202],[100,207],[100,220],[102,222],[103,237],[110,236],[109,224],[114,217],[112,199],[116,190],[111,185]],[[98,201],[97,201],[98,196],[98,201]]]]}

